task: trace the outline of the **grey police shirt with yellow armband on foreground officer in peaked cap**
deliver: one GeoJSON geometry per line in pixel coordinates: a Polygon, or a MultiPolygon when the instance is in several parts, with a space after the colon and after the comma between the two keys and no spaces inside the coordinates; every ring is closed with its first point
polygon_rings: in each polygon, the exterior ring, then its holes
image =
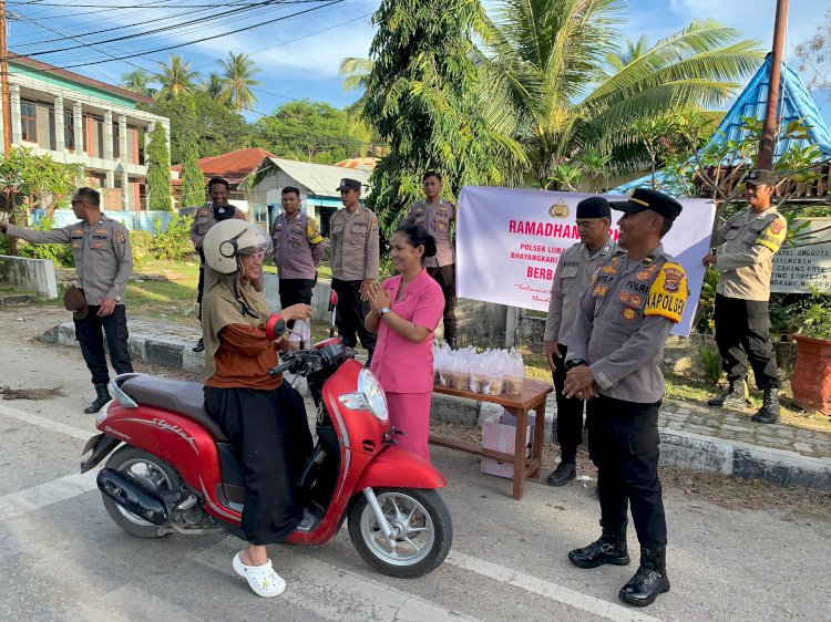
{"type": "Polygon", "coordinates": [[[583,359],[601,394],[652,404],[664,395],[664,342],[680,322],[687,276],[659,245],[640,261],[618,251],[581,297],[566,361],[583,359]]]}

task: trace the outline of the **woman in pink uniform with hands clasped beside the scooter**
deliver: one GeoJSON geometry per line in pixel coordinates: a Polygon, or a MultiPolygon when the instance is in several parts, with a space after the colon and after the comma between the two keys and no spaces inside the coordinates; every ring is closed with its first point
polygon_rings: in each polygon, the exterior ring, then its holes
{"type": "Polygon", "coordinates": [[[372,310],[365,325],[378,331],[369,369],[387,393],[390,423],[407,433],[398,437],[401,447],[429,460],[433,331],[444,312],[444,294],[422,263],[435,255],[435,239],[419,225],[404,225],[390,247],[399,273],[369,289],[372,310]]]}

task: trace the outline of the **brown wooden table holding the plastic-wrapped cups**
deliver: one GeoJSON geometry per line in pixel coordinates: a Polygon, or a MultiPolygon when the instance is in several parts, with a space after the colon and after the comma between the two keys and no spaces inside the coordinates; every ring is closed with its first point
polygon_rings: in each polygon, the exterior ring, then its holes
{"type": "Polygon", "coordinates": [[[448,447],[450,449],[458,449],[459,452],[466,452],[468,454],[474,454],[476,456],[484,456],[486,458],[494,458],[503,463],[513,463],[514,465],[514,499],[522,499],[522,494],[525,489],[525,478],[533,477],[540,479],[542,473],[542,455],[543,455],[543,431],[545,429],[545,398],[553,391],[551,383],[536,382],[526,380],[523,383],[522,393],[519,395],[510,395],[507,393],[500,393],[499,395],[483,395],[482,393],[473,393],[471,391],[463,391],[460,388],[451,388],[450,386],[433,386],[433,393],[441,393],[443,395],[454,395],[456,397],[465,397],[468,400],[474,400],[476,402],[492,402],[493,404],[500,404],[504,408],[516,417],[516,443],[514,446],[514,455],[503,454],[502,452],[495,452],[493,449],[483,449],[479,445],[472,443],[465,443],[464,440],[456,440],[454,438],[448,438],[444,436],[438,436],[435,434],[430,435],[430,443],[438,445],[439,447],[448,447]],[[529,411],[536,412],[536,422],[534,426],[534,440],[531,445],[531,458],[525,457],[525,428],[529,423],[529,411]]]}

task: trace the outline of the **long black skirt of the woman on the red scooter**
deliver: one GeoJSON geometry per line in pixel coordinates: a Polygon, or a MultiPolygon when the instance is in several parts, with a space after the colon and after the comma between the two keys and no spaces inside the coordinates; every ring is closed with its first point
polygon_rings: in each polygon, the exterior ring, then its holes
{"type": "Polygon", "coordinates": [[[206,386],[205,410],[239,455],[248,542],[285,540],[302,518],[297,481],[311,453],[302,398],[287,383],[271,391],[206,386]]]}

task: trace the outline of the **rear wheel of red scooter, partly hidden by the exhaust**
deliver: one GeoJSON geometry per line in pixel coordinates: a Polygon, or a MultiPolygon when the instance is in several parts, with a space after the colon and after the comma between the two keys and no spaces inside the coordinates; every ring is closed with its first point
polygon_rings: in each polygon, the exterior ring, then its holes
{"type": "MultiPolygon", "coordinates": [[[[130,445],[124,445],[110,456],[106,467],[137,477],[157,491],[178,490],[182,487],[176,469],[163,459],[130,445]]],[[[168,532],[124,509],[106,495],[101,495],[101,498],[113,522],[131,536],[152,539],[162,538],[168,532]]]]}

